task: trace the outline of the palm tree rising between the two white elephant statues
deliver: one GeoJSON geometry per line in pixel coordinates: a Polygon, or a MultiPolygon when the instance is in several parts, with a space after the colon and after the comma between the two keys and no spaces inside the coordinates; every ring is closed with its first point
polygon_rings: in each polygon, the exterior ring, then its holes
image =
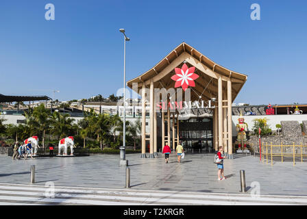
{"type": "Polygon", "coordinates": [[[42,148],[45,149],[45,134],[50,127],[49,110],[46,110],[45,105],[42,103],[34,109],[33,116],[38,124],[38,129],[42,131],[42,148]]]}

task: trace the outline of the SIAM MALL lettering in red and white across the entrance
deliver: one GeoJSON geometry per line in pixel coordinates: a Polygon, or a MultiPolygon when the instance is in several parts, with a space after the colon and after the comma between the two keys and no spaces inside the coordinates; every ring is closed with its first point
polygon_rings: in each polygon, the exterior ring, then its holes
{"type": "Polygon", "coordinates": [[[191,110],[191,109],[205,109],[205,108],[214,108],[215,106],[211,106],[211,101],[174,101],[165,103],[161,101],[156,104],[156,110],[191,110]],[[205,106],[206,105],[206,106],[205,106]]]}

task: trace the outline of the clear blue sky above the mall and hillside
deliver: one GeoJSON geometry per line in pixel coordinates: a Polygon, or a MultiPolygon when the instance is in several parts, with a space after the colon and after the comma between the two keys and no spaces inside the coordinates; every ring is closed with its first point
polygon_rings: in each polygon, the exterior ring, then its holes
{"type": "Polygon", "coordinates": [[[108,96],[181,42],[248,75],[236,103],[307,103],[307,1],[1,0],[1,94],[108,96]],[[53,3],[56,20],[45,20],[53,3]],[[261,7],[251,21],[250,6],[261,7]]]}

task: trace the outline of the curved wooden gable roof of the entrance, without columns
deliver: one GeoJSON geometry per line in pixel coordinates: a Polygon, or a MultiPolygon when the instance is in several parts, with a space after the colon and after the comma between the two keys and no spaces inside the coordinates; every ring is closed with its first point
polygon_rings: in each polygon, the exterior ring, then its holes
{"type": "Polygon", "coordinates": [[[145,86],[149,88],[152,79],[154,88],[174,88],[175,81],[171,79],[171,76],[175,75],[175,68],[181,68],[184,63],[189,67],[195,66],[195,73],[199,75],[199,78],[195,80],[195,87],[191,88],[192,101],[199,100],[199,96],[202,100],[217,98],[217,79],[219,77],[223,81],[223,92],[227,91],[227,81],[232,81],[232,101],[234,101],[247,80],[247,75],[220,66],[186,42],[182,42],[156,66],[143,75],[127,81],[127,86],[132,88],[132,83],[138,83],[140,94],[142,84],[145,83],[145,86]]]}

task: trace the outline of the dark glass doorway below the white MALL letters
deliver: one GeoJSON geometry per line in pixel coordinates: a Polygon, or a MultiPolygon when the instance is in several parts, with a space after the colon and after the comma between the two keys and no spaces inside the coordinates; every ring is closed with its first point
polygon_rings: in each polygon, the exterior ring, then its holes
{"type": "Polygon", "coordinates": [[[179,136],[186,151],[213,153],[212,118],[190,118],[180,120],[179,136]]]}

